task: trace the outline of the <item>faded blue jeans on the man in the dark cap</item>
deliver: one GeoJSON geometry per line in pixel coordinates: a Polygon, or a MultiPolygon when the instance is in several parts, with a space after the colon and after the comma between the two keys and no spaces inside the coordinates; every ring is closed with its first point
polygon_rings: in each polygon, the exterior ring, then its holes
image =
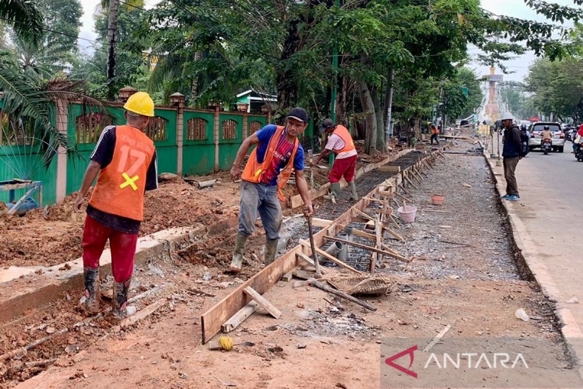
{"type": "Polygon", "coordinates": [[[254,184],[241,181],[241,201],[238,232],[250,236],[255,231],[257,214],[265,229],[267,239],[279,239],[282,227],[282,205],[279,203],[277,185],[254,184]]]}

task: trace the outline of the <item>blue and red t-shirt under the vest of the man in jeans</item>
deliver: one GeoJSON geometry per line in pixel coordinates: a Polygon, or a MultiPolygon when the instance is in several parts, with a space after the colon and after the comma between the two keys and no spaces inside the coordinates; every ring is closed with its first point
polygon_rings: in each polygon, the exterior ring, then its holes
{"type": "MultiPolygon", "coordinates": [[[[275,134],[277,126],[275,124],[268,124],[264,128],[257,131],[257,138],[259,138],[259,145],[257,145],[257,162],[263,163],[265,160],[265,152],[269,146],[269,141],[271,141],[272,136],[275,134]]],[[[278,140],[278,145],[276,146],[272,164],[268,166],[262,176],[262,182],[266,185],[277,185],[278,176],[284,169],[291,158],[291,152],[293,152],[293,143],[288,143],[285,139],[286,132],[283,131],[281,138],[278,140]]],[[[293,167],[295,170],[304,170],[304,149],[298,145],[296,156],[293,160],[293,167]]]]}

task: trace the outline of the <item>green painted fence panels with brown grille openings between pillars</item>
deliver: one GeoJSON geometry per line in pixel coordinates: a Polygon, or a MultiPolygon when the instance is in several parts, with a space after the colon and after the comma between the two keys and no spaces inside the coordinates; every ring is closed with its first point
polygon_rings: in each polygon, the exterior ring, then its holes
{"type": "MultiPolygon", "coordinates": [[[[0,110],[2,100],[0,100],[0,110]]],[[[218,113],[219,131],[215,134],[215,111],[192,110],[186,108],[179,117],[178,108],[157,107],[154,122],[147,135],[154,139],[158,156],[159,173],[178,173],[177,123],[182,120],[182,174],[203,175],[212,173],[218,164],[220,170],[229,170],[236,157],[244,135],[267,124],[265,115],[243,114],[221,111],[218,113]],[[247,120],[245,120],[247,116],[247,120]],[[244,128],[244,125],[247,128],[244,128]],[[215,145],[215,140],[217,145],[215,145]],[[216,161],[218,148],[219,160],[216,161]]],[[[99,135],[106,125],[125,123],[121,104],[107,108],[106,114],[92,113],[86,106],[77,103],[67,108],[67,136],[75,145],[66,159],[66,194],[79,190],[89,157],[95,148],[99,135]]],[[[40,167],[35,174],[27,176],[26,171],[41,166],[42,155],[38,146],[0,145],[0,180],[23,178],[41,180],[44,186],[44,204],[54,204],[57,193],[57,159],[48,168],[40,167]]],[[[24,190],[15,193],[19,198],[24,190]]],[[[38,195],[36,195],[38,199],[38,195]]],[[[8,192],[0,192],[0,201],[8,201],[8,192]]]]}

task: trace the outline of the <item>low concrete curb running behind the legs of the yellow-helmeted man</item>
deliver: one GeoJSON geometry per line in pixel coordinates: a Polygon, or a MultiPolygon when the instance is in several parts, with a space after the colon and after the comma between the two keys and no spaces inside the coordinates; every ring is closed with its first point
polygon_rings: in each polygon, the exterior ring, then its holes
{"type": "MultiPolygon", "coordinates": [[[[141,265],[148,261],[172,260],[181,248],[204,236],[219,234],[237,223],[238,216],[230,216],[209,226],[196,224],[143,236],[138,239],[134,263],[141,265]]],[[[26,310],[48,304],[62,293],[83,286],[83,258],[42,270],[41,274],[27,274],[1,284],[0,323],[13,320],[26,310]],[[63,267],[67,269],[59,270],[63,267]]],[[[111,275],[111,252],[104,250],[100,260],[100,276],[104,278],[108,275],[111,275]]],[[[75,299],[77,297],[73,296],[75,299]]]]}

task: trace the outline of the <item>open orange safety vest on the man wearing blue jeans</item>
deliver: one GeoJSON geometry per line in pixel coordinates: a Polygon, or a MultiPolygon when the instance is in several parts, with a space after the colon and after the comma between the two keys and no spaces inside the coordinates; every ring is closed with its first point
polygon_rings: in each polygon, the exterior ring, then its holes
{"type": "MultiPolygon", "coordinates": [[[[271,160],[273,159],[273,153],[275,153],[275,149],[278,147],[279,138],[283,134],[283,130],[285,127],[278,125],[275,134],[269,140],[269,145],[267,146],[267,150],[265,150],[265,157],[263,159],[263,163],[259,163],[257,160],[257,147],[251,153],[247,164],[245,164],[245,169],[243,170],[243,174],[241,175],[241,180],[248,181],[250,183],[258,184],[261,183],[261,178],[265,169],[271,165],[271,160]]],[[[300,141],[296,138],[294,143],[293,151],[291,152],[290,160],[287,163],[287,166],[282,169],[279,173],[278,177],[278,198],[280,201],[285,201],[286,198],[283,195],[282,188],[286,185],[287,180],[289,180],[291,176],[291,169],[293,169],[293,160],[296,156],[297,149],[300,146],[300,141]]]]}

